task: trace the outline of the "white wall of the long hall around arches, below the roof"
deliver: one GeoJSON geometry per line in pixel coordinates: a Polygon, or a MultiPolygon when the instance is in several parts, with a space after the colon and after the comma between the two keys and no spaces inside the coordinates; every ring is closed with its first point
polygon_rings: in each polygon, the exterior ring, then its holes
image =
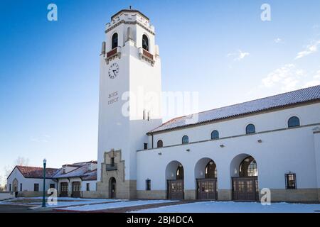
{"type": "MultiPolygon", "coordinates": [[[[181,138],[185,134],[189,135],[190,142],[209,139],[210,132],[214,129],[220,132],[220,137],[243,135],[247,123],[254,123],[257,132],[270,131],[287,128],[287,120],[291,116],[299,116],[302,126],[313,123],[320,124],[320,104],[170,131],[154,135],[154,137],[156,137],[155,141],[161,138],[164,145],[175,145],[181,143],[181,138]]],[[[283,131],[139,151],[137,152],[137,189],[144,190],[145,179],[149,178],[151,179],[151,189],[165,190],[166,165],[173,160],[177,160],[183,165],[185,189],[195,189],[195,166],[196,162],[203,157],[214,160],[217,165],[218,189],[231,189],[230,170],[233,167],[230,167],[230,163],[241,154],[255,157],[260,188],[284,189],[284,174],[289,171],[297,174],[297,188],[316,188],[313,128],[315,126],[291,128],[283,131]],[[257,140],[262,140],[262,143],[258,143],[257,140]],[[225,147],[221,148],[221,144],[225,147]],[[190,149],[190,152],[187,152],[187,149],[190,149]]],[[[233,162],[233,165],[239,164],[233,162]]]]}

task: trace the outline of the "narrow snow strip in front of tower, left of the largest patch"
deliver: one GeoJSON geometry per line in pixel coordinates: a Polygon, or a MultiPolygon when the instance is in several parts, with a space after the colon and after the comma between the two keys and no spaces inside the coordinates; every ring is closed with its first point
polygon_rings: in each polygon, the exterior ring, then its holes
{"type": "Polygon", "coordinates": [[[138,201],[120,201],[110,204],[92,204],[85,206],[70,206],[66,207],[63,210],[68,211],[99,211],[105,209],[114,209],[114,208],[122,208],[129,206],[142,206],[147,204],[162,204],[173,202],[172,200],[138,200],[138,201]]]}

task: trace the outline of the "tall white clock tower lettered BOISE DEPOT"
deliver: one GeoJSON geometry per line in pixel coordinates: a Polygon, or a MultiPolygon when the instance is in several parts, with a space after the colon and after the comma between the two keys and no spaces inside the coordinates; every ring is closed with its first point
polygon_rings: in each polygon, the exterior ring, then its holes
{"type": "Polygon", "coordinates": [[[133,199],[136,153],[161,124],[161,60],[154,26],[140,11],[111,17],[100,55],[97,196],[133,199]]]}

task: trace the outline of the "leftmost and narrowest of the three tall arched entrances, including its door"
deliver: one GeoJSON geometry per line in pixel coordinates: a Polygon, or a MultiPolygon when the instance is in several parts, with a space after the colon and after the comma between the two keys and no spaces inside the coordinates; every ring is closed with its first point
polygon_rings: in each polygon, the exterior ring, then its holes
{"type": "Polygon", "coordinates": [[[183,199],[183,165],[178,161],[171,161],[166,165],[166,187],[168,199],[183,199]]]}

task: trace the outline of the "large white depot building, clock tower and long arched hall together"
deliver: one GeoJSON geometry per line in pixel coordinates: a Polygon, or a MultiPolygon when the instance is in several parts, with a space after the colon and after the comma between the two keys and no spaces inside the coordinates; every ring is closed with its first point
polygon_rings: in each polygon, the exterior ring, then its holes
{"type": "Polygon", "coordinates": [[[272,201],[319,201],[320,86],[162,123],[149,18],[119,11],[105,33],[92,196],[257,200],[268,188],[272,201]]]}

